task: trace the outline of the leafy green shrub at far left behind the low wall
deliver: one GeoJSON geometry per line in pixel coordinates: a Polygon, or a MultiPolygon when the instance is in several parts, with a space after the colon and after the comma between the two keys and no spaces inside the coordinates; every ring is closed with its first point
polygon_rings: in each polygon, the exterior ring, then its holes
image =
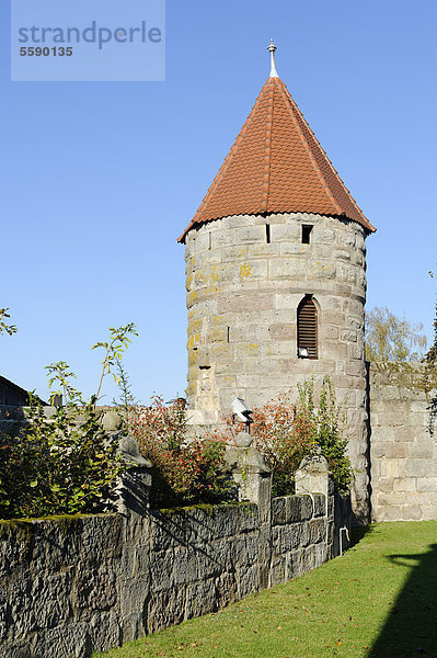
{"type": "Polygon", "coordinates": [[[15,438],[0,434],[2,519],[103,511],[125,465],[105,441],[94,402],[46,418],[33,398],[31,424],[15,438]]]}

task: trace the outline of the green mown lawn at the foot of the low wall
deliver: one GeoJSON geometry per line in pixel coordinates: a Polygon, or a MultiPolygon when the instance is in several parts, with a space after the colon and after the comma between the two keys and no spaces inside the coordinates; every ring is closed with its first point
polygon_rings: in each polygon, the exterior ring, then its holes
{"type": "Polygon", "coordinates": [[[94,658],[437,657],[437,522],[363,534],[299,579],[94,658]]]}

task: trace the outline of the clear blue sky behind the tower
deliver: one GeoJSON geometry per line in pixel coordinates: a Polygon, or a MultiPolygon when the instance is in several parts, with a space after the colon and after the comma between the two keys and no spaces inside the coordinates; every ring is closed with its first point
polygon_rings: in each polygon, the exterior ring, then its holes
{"type": "Polygon", "coordinates": [[[368,308],[387,305],[432,336],[433,0],[168,0],[165,82],[10,82],[9,22],[2,0],[0,306],[20,331],[0,338],[0,374],[45,397],[44,366],[62,360],[91,394],[91,345],[134,321],[135,395],[184,393],[176,238],[267,78],[271,36],[280,78],[378,228],[368,308]]]}

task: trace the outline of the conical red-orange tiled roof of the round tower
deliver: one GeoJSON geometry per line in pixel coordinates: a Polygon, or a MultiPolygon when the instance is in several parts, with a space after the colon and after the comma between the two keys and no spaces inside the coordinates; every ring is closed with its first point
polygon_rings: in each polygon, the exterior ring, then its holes
{"type": "Polygon", "coordinates": [[[267,79],[180,241],[206,222],[262,213],[343,216],[376,230],[278,77],[267,79]]]}

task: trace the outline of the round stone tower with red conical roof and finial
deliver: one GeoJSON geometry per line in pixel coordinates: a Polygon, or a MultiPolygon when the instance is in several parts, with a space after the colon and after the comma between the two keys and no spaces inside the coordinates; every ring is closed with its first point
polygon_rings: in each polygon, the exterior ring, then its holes
{"type": "Polygon", "coordinates": [[[185,243],[188,408],[216,423],[329,375],[347,410],[354,507],[368,514],[365,238],[356,205],[279,79],[271,75],[185,243]]]}

